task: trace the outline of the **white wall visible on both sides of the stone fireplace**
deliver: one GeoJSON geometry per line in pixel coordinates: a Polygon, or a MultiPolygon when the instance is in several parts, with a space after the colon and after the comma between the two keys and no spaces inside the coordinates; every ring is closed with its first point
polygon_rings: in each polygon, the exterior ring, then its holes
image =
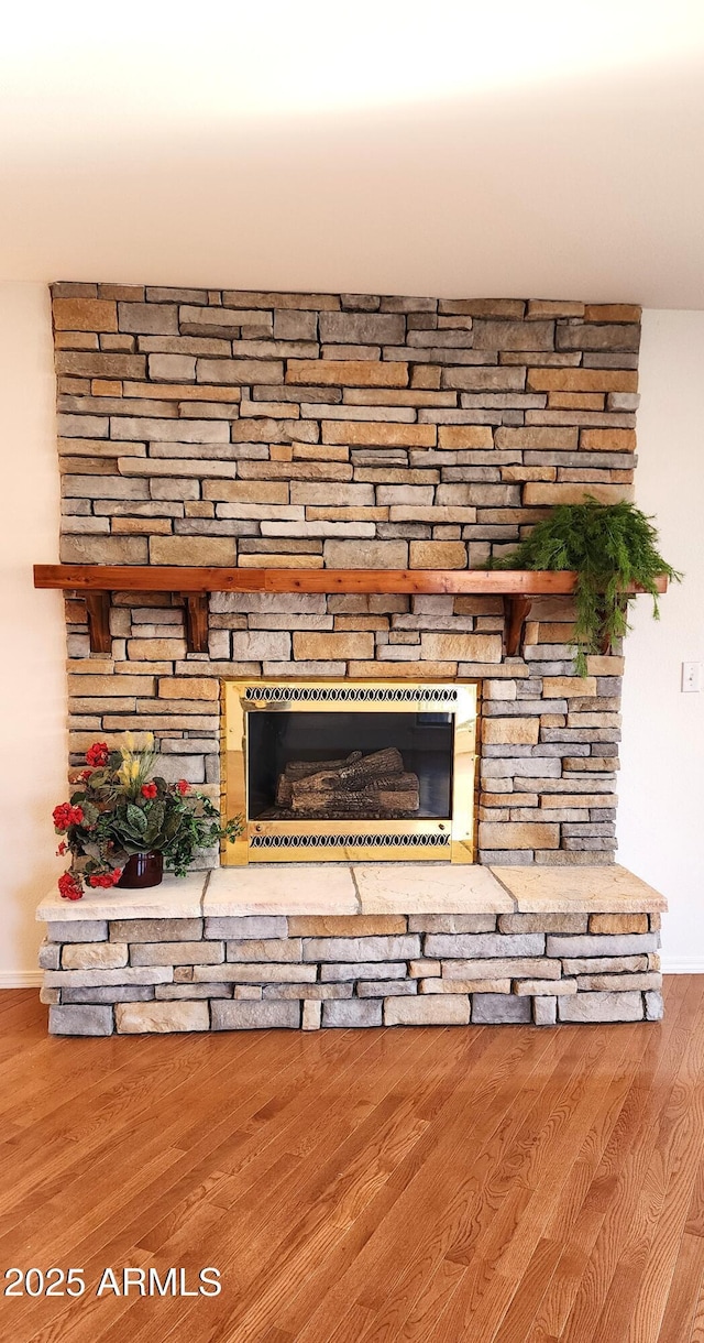
{"type": "MultiPolygon", "coordinates": [[[[638,504],[685,569],[634,606],[624,686],[620,861],[662,890],[669,970],[704,971],[704,694],[680,693],[704,659],[704,313],[646,312],[638,414],[638,504]]],[[[66,794],[62,599],[32,564],[58,559],[59,479],[48,293],[0,285],[0,986],[35,983],[34,908],[62,864],[51,810],[66,794]]]]}

